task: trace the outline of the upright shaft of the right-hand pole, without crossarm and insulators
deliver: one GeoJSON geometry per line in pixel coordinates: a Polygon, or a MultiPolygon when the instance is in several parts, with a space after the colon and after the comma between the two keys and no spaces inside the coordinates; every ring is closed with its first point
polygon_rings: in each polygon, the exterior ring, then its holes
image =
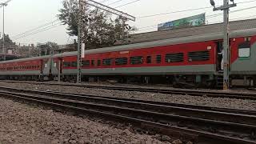
{"type": "MultiPolygon", "coordinates": [[[[229,6],[229,0],[224,0],[223,6],[229,6]]],[[[224,73],[223,73],[223,90],[230,89],[230,37],[229,37],[229,8],[223,10],[224,13],[224,39],[223,39],[223,48],[224,48],[224,73]]]]}

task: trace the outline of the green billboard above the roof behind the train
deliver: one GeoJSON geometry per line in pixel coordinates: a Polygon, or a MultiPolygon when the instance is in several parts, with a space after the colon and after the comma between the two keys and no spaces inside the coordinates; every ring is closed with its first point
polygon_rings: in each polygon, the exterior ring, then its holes
{"type": "Polygon", "coordinates": [[[198,14],[188,18],[182,18],[171,22],[158,24],[158,30],[170,30],[189,26],[202,26],[206,23],[206,14],[198,14]]]}

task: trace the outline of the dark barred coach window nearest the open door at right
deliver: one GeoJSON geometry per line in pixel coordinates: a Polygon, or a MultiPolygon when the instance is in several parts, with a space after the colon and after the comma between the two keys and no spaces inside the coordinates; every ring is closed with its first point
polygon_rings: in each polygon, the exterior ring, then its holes
{"type": "Polygon", "coordinates": [[[207,61],[210,59],[210,51],[193,51],[188,54],[189,62],[207,61]]]}

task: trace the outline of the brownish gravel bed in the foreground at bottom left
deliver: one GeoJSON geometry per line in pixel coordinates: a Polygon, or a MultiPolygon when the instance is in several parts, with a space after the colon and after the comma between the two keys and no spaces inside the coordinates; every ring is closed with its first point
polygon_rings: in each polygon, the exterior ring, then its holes
{"type": "Polygon", "coordinates": [[[121,124],[114,126],[6,98],[0,98],[0,102],[1,144],[170,143],[158,140],[166,136],[135,134],[121,124]]]}

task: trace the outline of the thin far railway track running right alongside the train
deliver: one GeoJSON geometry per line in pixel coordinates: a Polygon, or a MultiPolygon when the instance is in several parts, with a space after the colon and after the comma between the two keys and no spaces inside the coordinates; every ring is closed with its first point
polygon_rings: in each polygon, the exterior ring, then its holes
{"type": "Polygon", "coordinates": [[[126,91],[139,91],[139,92],[150,92],[150,93],[161,93],[161,94],[179,94],[179,95],[191,95],[201,96],[210,98],[236,98],[236,99],[250,99],[256,100],[256,94],[246,93],[229,93],[220,91],[203,91],[203,90],[178,90],[178,89],[157,89],[157,88],[141,88],[141,87],[125,87],[125,86],[94,86],[94,85],[83,85],[74,83],[51,83],[51,82],[20,82],[20,81],[2,81],[6,83],[27,83],[27,84],[38,84],[46,86],[77,86],[94,89],[104,90],[126,90],[126,91]]]}

